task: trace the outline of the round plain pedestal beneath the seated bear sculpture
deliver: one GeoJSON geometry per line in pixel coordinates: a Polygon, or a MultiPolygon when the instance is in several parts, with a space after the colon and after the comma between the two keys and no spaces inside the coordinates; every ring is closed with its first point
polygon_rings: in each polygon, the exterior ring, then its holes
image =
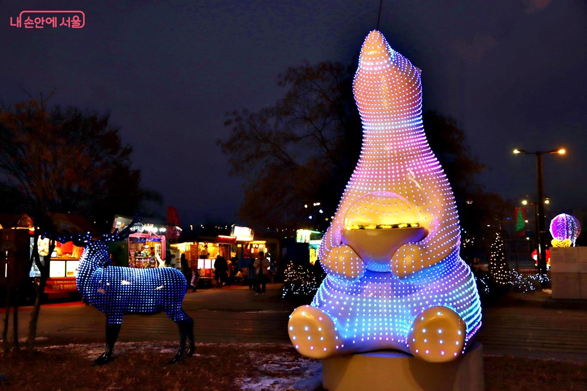
{"type": "Polygon", "coordinates": [[[456,361],[429,363],[400,352],[372,352],[322,360],[328,391],[483,391],[483,348],[474,343],[456,361]]]}

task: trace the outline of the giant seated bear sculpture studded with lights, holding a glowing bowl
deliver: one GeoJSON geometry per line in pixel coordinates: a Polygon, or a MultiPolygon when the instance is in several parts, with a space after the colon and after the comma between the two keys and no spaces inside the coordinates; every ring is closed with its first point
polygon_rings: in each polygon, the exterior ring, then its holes
{"type": "Polygon", "coordinates": [[[322,239],[328,276],[289,318],[302,355],[398,349],[425,361],[463,354],[481,325],[475,280],[459,256],[453,192],[422,126],[420,70],[369,33],[353,93],[359,162],[322,239]]]}

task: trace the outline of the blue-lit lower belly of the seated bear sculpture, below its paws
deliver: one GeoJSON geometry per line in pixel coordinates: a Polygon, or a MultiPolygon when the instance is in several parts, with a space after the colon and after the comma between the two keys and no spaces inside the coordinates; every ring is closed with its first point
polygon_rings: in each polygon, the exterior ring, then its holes
{"type": "Polygon", "coordinates": [[[329,276],[312,306],[326,312],[348,340],[393,338],[403,343],[416,315],[437,305],[457,312],[467,324],[467,336],[473,334],[481,309],[473,275],[458,251],[420,273],[400,280],[389,272],[367,270],[352,283],[329,276]]]}

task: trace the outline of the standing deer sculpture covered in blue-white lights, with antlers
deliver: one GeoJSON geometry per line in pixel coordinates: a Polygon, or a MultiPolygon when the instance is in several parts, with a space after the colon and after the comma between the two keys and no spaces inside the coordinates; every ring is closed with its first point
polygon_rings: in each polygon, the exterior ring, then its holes
{"type": "Polygon", "coordinates": [[[106,243],[126,239],[134,223],[137,221],[133,220],[120,232],[104,234],[97,240],[89,233],[54,237],[61,243],[73,241],[78,246],[85,246],[77,267],[77,290],[88,304],[106,314],[106,349],[94,361],[96,365],[112,360],[124,314],[150,315],[165,311],[180,331],[180,346],[168,363],[181,359],[186,337],[190,340],[187,356],[194,354],[194,321],[181,308],[187,289],[183,274],[173,267],[139,269],[109,264],[106,243]]]}

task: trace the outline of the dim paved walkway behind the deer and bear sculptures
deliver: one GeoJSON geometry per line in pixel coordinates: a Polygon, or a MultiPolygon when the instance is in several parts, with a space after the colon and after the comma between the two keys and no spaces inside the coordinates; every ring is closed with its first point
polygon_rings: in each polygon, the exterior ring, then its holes
{"type": "MultiPolygon", "coordinates": [[[[266,295],[246,287],[188,293],[185,310],[195,320],[198,342],[289,342],[288,315],[296,304],[281,300],[281,285],[266,295]]],[[[26,335],[31,309],[20,312],[21,336],[26,335]]],[[[102,341],[104,315],[81,303],[45,305],[39,336],[102,341]]],[[[176,325],[164,314],[127,315],[120,341],[173,340],[176,325]]],[[[484,311],[477,336],[485,353],[587,361],[587,302],[553,301],[548,294],[509,295],[484,311]]]]}

